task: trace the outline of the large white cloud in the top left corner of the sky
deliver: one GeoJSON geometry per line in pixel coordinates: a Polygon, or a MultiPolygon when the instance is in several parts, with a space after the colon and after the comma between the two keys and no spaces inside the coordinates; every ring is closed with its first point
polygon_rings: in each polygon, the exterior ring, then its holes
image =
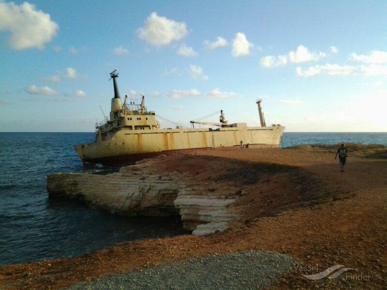
{"type": "Polygon", "coordinates": [[[43,49],[55,37],[59,26],[49,14],[36,10],[28,2],[16,5],[0,1],[0,31],[8,30],[10,46],[17,50],[27,48],[43,49]]]}

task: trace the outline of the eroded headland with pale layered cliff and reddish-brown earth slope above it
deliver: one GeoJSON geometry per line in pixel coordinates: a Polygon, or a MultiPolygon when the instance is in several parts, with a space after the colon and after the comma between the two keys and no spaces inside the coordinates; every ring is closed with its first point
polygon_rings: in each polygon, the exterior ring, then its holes
{"type": "Polygon", "coordinates": [[[296,166],[201,155],[147,160],[107,175],[50,174],[47,190],[50,196],[81,199],[116,214],[180,214],[184,229],[194,235],[336,195],[296,166]]]}

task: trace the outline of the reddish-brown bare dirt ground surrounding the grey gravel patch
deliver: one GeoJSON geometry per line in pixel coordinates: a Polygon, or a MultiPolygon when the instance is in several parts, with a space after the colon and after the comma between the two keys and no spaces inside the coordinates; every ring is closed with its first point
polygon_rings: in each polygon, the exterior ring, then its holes
{"type": "Polygon", "coordinates": [[[230,230],[205,237],[127,242],[82,257],[3,266],[0,289],[57,289],[149,265],[245,249],[290,254],[306,267],[301,271],[295,265],[272,289],[387,285],[386,161],[350,157],[341,173],[334,155],[299,150],[207,151],[189,157],[197,162],[186,166],[181,158],[165,159],[157,166],[193,174],[196,182],[206,178],[230,182],[219,178],[232,176],[229,172],[244,178],[238,201],[243,214],[230,230]],[[209,156],[211,166],[203,168],[209,156]],[[257,177],[246,168],[259,168],[264,174],[257,177]],[[271,211],[280,213],[271,216],[271,211]],[[337,264],[355,270],[336,279],[301,276],[337,264]]]}

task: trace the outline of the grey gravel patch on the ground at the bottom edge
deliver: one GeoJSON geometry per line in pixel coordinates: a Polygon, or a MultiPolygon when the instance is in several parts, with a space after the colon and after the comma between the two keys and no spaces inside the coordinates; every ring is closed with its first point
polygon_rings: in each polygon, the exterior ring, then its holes
{"type": "Polygon", "coordinates": [[[240,251],[200,256],[167,265],[81,282],[66,290],[98,289],[262,289],[297,261],[284,254],[240,251]]]}

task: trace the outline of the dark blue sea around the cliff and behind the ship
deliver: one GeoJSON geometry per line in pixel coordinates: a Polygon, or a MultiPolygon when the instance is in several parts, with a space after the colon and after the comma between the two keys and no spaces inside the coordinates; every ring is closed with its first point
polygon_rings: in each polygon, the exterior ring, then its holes
{"type": "MultiPolygon", "coordinates": [[[[106,174],[84,166],[74,144],[94,133],[0,132],[0,265],[82,255],[116,243],[187,234],[178,216],[122,217],[74,200],[50,198],[47,174],[106,174]]],[[[387,133],[285,132],[281,147],[354,142],[387,145],[387,133]]]]}

